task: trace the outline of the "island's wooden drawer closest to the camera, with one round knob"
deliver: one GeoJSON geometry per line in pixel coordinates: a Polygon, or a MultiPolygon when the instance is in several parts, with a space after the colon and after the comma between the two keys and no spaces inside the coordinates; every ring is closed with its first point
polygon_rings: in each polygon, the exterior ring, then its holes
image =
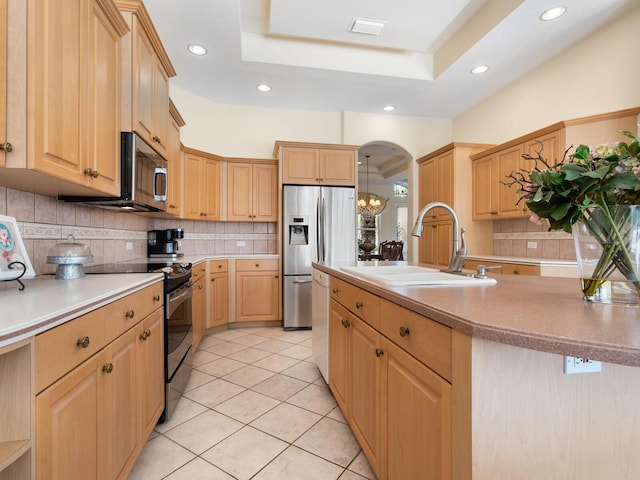
{"type": "Polygon", "coordinates": [[[380,332],[451,382],[451,328],[382,300],[380,332]]]}

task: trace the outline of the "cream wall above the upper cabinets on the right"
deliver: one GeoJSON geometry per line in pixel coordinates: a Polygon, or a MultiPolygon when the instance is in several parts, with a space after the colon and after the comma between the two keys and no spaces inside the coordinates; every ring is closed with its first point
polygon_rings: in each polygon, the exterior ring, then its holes
{"type": "Polygon", "coordinates": [[[503,143],[561,120],[640,106],[638,25],[640,7],[459,115],[455,141],[503,143]]]}

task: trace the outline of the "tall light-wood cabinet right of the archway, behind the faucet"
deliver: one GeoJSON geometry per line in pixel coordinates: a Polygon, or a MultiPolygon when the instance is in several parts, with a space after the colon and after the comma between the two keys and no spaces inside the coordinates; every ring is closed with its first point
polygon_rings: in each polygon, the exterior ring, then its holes
{"type": "MultiPolygon", "coordinates": [[[[471,159],[470,155],[491,145],[451,143],[417,160],[419,207],[442,202],[454,209],[460,225],[467,233],[468,247],[478,246],[490,232],[480,231],[483,225],[471,221],[471,159]]],[[[433,266],[447,267],[451,258],[453,224],[443,208],[427,212],[422,219],[423,231],[419,243],[419,261],[433,266]]],[[[477,251],[476,248],[473,248],[477,251]]]]}

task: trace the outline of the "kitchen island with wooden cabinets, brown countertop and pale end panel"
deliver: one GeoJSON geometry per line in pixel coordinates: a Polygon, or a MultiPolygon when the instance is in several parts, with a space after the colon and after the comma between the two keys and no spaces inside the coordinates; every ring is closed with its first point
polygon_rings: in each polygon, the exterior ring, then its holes
{"type": "Polygon", "coordinates": [[[584,302],[577,279],[386,288],[352,265],[314,264],[329,383],[381,480],[640,478],[637,308],[584,302]],[[564,355],[602,371],[566,375],[564,355]]]}

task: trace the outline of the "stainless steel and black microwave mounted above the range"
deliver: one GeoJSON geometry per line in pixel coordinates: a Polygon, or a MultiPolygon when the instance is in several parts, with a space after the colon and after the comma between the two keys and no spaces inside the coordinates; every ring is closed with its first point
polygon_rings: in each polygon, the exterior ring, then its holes
{"type": "Polygon", "coordinates": [[[120,196],[59,196],[121,212],[160,212],[167,206],[167,161],[133,132],[120,134],[120,196]]]}

